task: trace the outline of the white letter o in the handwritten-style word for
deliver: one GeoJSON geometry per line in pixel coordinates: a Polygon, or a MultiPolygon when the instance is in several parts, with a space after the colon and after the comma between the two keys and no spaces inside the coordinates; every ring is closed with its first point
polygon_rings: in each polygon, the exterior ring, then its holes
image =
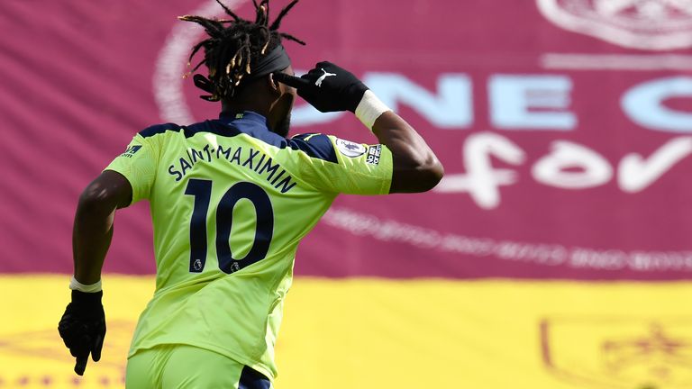
{"type": "Polygon", "coordinates": [[[613,176],[607,159],[592,149],[565,140],[552,142],[551,154],[533,165],[536,181],[564,189],[603,185],[613,176]],[[577,168],[577,171],[566,170],[577,168]]]}

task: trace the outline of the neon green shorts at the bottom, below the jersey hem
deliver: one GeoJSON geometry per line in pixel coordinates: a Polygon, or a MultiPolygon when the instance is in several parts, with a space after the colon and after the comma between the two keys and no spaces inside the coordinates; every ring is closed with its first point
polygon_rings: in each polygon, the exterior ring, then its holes
{"type": "Polygon", "coordinates": [[[125,387],[270,389],[269,379],[235,360],[205,348],[160,345],[127,360],[125,387]]]}

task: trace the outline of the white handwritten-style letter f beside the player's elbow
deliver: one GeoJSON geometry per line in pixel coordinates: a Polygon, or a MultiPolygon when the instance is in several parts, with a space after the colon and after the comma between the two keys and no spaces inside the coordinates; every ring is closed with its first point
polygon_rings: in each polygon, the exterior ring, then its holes
{"type": "Polygon", "coordinates": [[[496,157],[513,165],[524,163],[524,151],[511,140],[493,132],[469,135],[462,153],[466,174],[451,174],[435,187],[437,192],[468,192],[479,207],[496,208],[500,204],[500,185],[513,185],[516,172],[495,169],[490,158],[496,157]]]}

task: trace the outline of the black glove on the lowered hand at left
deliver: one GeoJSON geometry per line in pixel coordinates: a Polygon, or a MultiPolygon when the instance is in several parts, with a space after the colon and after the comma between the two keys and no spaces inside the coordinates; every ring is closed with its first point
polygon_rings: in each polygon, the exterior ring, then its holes
{"type": "Polygon", "coordinates": [[[101,304],[103,295],[103,291],[85,293],[73,290],[72,303],[68,303],[58,323],[60,338],[72,357],[77,358],[77,375],[84,375],[89,353],[94,362],[101,359],[105,338],[105,313],[101,304]]]}

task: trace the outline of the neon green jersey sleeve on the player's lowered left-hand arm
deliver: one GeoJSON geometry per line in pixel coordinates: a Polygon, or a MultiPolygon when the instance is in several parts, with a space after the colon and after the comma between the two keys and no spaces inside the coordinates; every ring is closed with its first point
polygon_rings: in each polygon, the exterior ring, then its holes
{"type": "Polygon", "coordinates": [[[156,177],[159,163],[159,150],[150,140],[137,134],[123,154],[116,157],[104,170],[116,171],[132,185],[132,203],[150,198],[151,188],[156,177]]]}

